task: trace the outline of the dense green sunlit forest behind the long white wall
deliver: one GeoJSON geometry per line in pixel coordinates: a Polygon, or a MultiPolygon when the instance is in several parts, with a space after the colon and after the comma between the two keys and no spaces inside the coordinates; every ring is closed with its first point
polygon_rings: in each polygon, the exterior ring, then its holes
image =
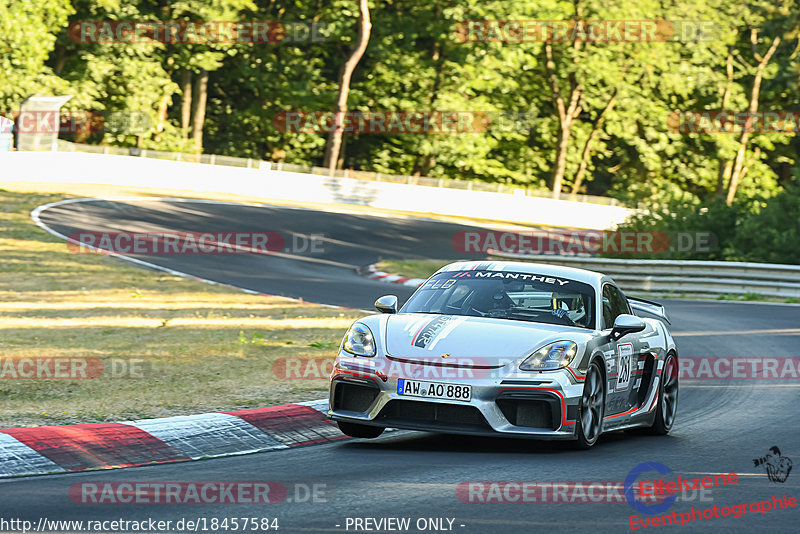
{"type": "MultiPolygon", "coordinates": [[[[346,134],[340,166],[542,190],[558,175],[565,193],[656,212],[733,197],[762,214],[737,229],[764,234],[762,225],[786,223],[796,233],[796,217],[779,213],[797,213],[796,193],[775,195],[798,182],[797,136],[668,126],[676,110],[747,111],[754,101],[759,111],[800,110],[796,0],[372,0],[369,8],[349,109],[484,111],[495,121],[484,133],[346,134]],[[465,41],[459,33],[461,21],[515,19],[709,21],[713,31],[580,43],[465,41]]],[[[70,109],[151,118],[135,135],[107,130],[78,141],[319,165],[326,135],[281,132],[273,119],[334,109],[358,13],[357,0],[0,0],[0,110],[35,92],[72,94],[70,109]],[[268,20],[287,33],[260,44],[75,42],[68,26],[87,20],[268,20]],[[307,26],[296,22],[316,23],[324,38],[304,38],[307,26]]]]}

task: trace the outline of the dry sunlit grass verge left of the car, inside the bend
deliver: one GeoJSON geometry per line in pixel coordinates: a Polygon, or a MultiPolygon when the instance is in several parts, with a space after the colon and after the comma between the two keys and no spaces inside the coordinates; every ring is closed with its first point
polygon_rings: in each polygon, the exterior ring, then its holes
{"type": "MultiPolygon", "coordinates": [[[[272,364],[283,357],[332,359],[360,312],[249,295],[108,256],[72,254],[30,219],[36,206],[72,196],[55,189],[0,189],[0,427],[325,397],[322,373],[287,380],[273,373],[272,364]],[[96,358],[106,372],[85,380],[17,379],[23,358],[96,358]]],[[[80,196],[110,193],[107,187],[84,187],[80,196]]]]}

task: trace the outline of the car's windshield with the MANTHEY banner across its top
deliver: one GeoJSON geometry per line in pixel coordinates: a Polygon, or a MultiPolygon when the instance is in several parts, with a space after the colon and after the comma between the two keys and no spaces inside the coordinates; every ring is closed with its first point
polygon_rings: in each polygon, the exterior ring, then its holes
{"type": "Polygon", "coordinates": [[[507,271],[446,271],[400,310],[594,328],[594,289],[568,278],[507,271]]]}

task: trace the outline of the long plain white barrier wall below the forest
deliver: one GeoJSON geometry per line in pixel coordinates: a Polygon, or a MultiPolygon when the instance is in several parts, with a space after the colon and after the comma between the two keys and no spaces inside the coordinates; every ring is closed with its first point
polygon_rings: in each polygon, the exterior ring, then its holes
{"type": "Polygon", "coordinates": [[[232,193],[592,230],[613,228],[631,212],[620,206],[541,197],[81,152],[6,153],[0,156],[3,180],[232,193]]]}

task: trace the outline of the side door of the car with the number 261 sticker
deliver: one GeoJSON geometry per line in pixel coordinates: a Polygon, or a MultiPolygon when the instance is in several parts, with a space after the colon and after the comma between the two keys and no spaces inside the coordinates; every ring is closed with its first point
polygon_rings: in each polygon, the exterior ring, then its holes
{"type": "MultiPolygon", "coordinates": [[[[620,289],[610,282],[603,284],[602,291],[603,329],[610,332],[614,320],[623,313],[631,313],[628,300],[620,289]]],[[[606,426],[613,426],[615,419],[626,414],[638,404],[636,375],[639,371],[639,354],[642,350],[641,335],[628,334],[603,346],[606,359],[606,426]]]]}

